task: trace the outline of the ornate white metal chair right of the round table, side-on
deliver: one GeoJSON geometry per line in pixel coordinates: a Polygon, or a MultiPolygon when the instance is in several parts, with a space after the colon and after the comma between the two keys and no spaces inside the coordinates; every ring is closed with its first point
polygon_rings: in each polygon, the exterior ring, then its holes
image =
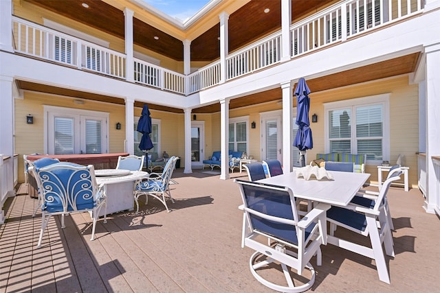
{"type": "Polygon", "coordinates": [[[177,156],[172,156],[166,162],[162,174],[151,173],[148,178],[137,180],[135,183],[134,197],[136,202],[136,213],[139,213],[139,197],[145,196],[145,204],[148,204],[148,196],[157,198],[164,204],[166,211],[169,213],[168,205],[166,204],[165,195],[174,203],[173,197],[169,189],[170,179],[173,176],[173,171],[177,162],[177,156]]]}

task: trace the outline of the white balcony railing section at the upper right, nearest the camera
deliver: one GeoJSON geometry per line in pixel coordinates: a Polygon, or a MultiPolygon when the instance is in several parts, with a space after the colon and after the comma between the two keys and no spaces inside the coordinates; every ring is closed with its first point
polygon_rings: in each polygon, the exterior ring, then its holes
{"type": "Polygon", "coordinates": [[[421,12],[423,0],[350,0],[332,5],[290,27],[291,56],[347,40],[421,12]]]}

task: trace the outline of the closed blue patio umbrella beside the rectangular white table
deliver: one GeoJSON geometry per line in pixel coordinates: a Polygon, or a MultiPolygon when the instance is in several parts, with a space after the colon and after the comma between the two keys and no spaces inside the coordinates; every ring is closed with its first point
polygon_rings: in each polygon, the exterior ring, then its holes
{"type": "Polygon", "coordinates": [[[314,141],[311,137],[310,121],[309,121],[309,86],[305,82],[304,78],[300,78],[294,95],[296,95],[296,125],[298,125],[298,132],[294,140],[294,146],[300,150],[301,165],[305,166],[305,151],[311,150],[314,147],[314,141]]]}

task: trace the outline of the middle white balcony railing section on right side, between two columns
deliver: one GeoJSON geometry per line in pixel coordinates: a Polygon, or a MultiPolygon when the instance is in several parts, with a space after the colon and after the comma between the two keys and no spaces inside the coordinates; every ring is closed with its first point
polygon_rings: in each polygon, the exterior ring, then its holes
{"type": "Polygon", "coordinates": [[[226,80],[263,69],[281,60],[281,32],[276,32],[226,57],[226,80]]]}

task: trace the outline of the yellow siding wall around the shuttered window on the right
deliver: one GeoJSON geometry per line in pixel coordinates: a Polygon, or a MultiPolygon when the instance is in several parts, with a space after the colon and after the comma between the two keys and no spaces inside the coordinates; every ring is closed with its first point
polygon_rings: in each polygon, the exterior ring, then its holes
{"type": "MultiPolygon", "coordinates": [[[[314,135],[314,148],[307,151],[307,161],[316,158],[317,153],[324,149],[324,106],[323,103],[366,97],[381,93],[390,95],[390,134],[391,134],[391,157],[389,161],[395,163],[399,154],[405,155],[405,165],[410,167],[409,183],[417,188],[417,156],[419,148],[419,105],[418,85],[409,84],[408,75],[396,78],[387,78],[376,82],[368,82],[341,89],[323,91],[309,95],[311,99],[310,114],[318,115],[318,122],[311,124],[314,135]]],[[[366,165],[366,172],[371,174],[370,180],[377,182],[377,167],[366,165]]]]}

